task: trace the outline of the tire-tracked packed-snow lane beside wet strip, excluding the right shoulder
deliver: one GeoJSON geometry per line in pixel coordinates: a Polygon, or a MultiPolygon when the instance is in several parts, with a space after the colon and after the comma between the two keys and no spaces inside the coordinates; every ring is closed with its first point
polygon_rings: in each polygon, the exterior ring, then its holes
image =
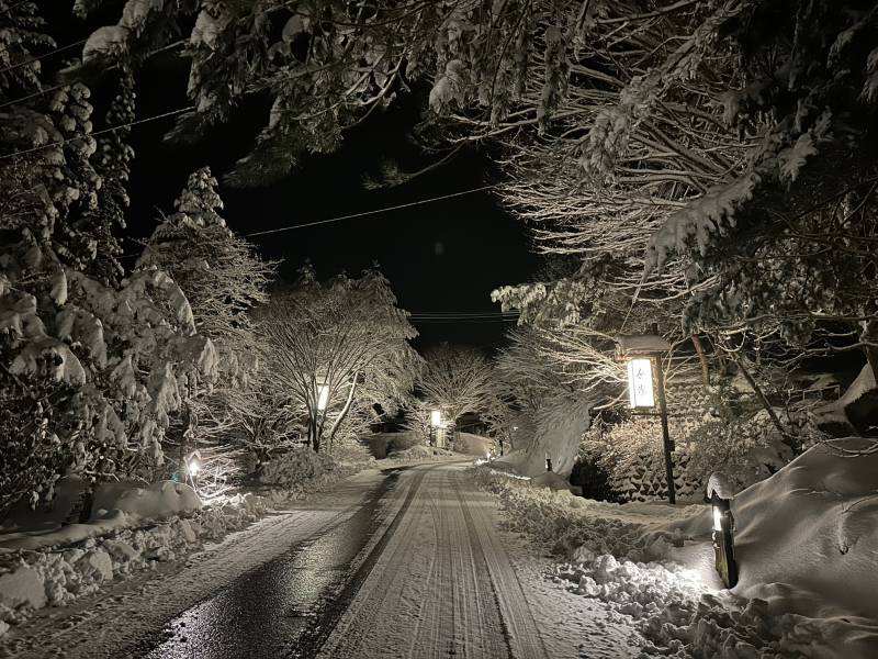
{"type": "Polygon", "coordinates": [[[480,513],[492,504],[474,489],[464,498],[463,478],[436,467],[409,490],[416,498],[320,657],[548,656],[494,521],[480,513]]]}

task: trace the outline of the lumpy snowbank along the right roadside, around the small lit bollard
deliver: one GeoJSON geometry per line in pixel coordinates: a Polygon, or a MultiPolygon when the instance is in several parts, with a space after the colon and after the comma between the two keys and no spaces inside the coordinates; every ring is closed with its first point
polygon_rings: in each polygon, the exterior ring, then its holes
{"type": "Polygon", "coordinates": [[[741,581],[713,571],[707,505],[607,504],[477,470],[549,577],[634,624],[643,656],[878,657],[878,455],[819,445],[734,500],[741,581]]]}

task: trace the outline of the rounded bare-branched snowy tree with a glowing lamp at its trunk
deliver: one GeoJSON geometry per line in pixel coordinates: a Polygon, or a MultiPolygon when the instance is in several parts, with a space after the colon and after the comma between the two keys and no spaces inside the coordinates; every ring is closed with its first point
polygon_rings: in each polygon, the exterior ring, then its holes
{"type": "Polygon", "coordinates": [[[417,332],[375,269],[325,283],[306,265],[295,286],[264,310],[269,362],[291,422],[315,451],[331,445],[349,415],[394,415],[414,386],[417,332]]]}

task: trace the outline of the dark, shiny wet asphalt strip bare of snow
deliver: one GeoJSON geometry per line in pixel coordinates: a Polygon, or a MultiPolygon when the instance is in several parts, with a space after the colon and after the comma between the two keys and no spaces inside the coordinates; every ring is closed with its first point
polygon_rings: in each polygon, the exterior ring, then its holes
{"type": "Polygon", "coordinates": [[[389,473],[350,517],[243,574],[170,621],[154,643],[130,648],[128,656],[313,657],[357,594],[383,549],[382,540],[393,533],[393,527],[387,528],[370,554],[360,557],[381,526],[381,500],[394,488],[399,473],[401,470],[389,473]]]}

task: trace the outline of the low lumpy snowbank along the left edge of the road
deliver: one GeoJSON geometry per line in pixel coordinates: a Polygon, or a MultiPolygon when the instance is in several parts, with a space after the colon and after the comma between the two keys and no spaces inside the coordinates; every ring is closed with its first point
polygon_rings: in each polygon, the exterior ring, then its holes
{"type": "Polygon", "coordinates": [[[217,498],[207,505],[188,485],[169,481],[102,487],[89,524],[48,528],[44,522],[48,529],[0,535],[0,637],[10,623],[21,623],[34,610],[67,605],[108,581],[179,560],[268,510],[362,468],[311,450],[293,451],[263,465],[259,494],[217,498]]]}

